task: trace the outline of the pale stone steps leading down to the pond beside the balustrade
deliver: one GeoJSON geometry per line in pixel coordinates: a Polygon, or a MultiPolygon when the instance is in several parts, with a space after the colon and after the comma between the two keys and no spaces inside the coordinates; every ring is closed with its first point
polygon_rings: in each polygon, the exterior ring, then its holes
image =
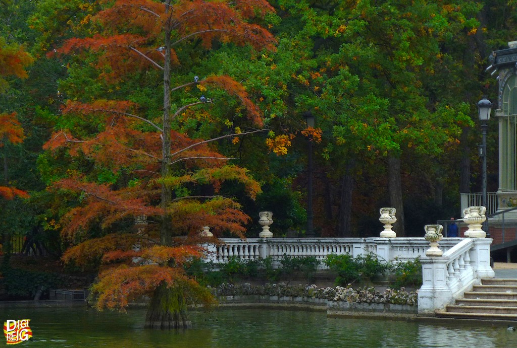
{"type": "Polygon", "coordinates": [[[437,311],[439,318],[517,320],[517,279],[481,279],[464,299],[445,311],[437,311]]]}

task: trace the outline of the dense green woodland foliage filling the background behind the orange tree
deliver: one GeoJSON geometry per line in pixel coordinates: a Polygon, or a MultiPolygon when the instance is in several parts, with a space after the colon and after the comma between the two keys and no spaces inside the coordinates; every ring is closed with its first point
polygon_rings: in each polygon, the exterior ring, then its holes
{"type": "MultiPolygon", "coordinates": [[[[93,50],[53,54],[70,38],[107,31],[107,23],[90,19],[108,3],[0,3],[0,49],[22,49],[33,60],[23,67],[26,78],[21,72],[0,74],[0,114],[16,112],[25,135],[22,143],[0,147],[0,186],[17,187],[31,196],[12,201],[0,197],[4,217],[0,244],[10,235],[24,236],[41,225],[45,250],[59,256],[69,246],[70,241],[59,236],[63,227],[59,221],[83,202],[84,195],[53,188],[60,178],[83,173],[111,188],[141,184],[127,171],[113,171],[84,154],[72,158],[65,150],[54,154],[42,150],[53,130],[69,129],[79,137],[104,129],[97,115],[62,114],[70,101],[129,100],[139,105],[139,114],[147,120],[162,114],[158,69],[122,69],[115,64],[120,69],[113,70],[113,61],[99,64],[101,53],[93,50]]],[[[306,111],[315,115],[321,129],[321,142],[314,141],[312,147],[318,234],[377,236],[378,208],[388,205],[397,206],[399,221],[404,221],[400,209],[404,208],[407,236],[421,236],[423,224],[457,216],[459,192],[480,191],[474,104],[485,93],[495,101],[496,80],[484,69],[489,54],[517,36],[517,4],[488,0],[273,0],[270,4],[276,12],[256,22],[275,35],[276,51],[257,52],[224,38],[211,49],[199,40],[182,42],[176,51],[182,63],[173,65],[171,77],[171,85],[177,86],[196,75],[201,79],[228,75],[242,83],[258,106],[267,132],[214,143],[215,150],[235,158],[229,162],[261,181],[263,193],[256,201],[242,194],[238,185],[221,187],[222,194],[236,197],[251,217],[249,236],[260,229],[260,210],[273,211],[271,230],[276,236],[305,225],[307,141],[313,136],[301,134],[306,111]],[[400,172],[390,172],[392,160],[400,161],[400,172]],[[465,161],[467,170],[458,165],[460,161],[465,161]],[[387,187],[389,178],[400,179],[400,190],[387,187]]],[[[128,30],[134,35],[137,31],[128,30]]],[[[159,47],[158,41],[149,45],[159,47]]],[[[155,51],[149,55],[161,59],[155,51]]],[[[173,129],[209,139],[252,127],[238,98],[212,86],[172,93],[172,107],[197,101],[201,95],[213,103],[184,110],[172,121],[173,129]]],[[[148,131],[150,126],[135,127],[148,131]]],[[[496,127],[489,130],[488,190],[495,191],[496,127]]],[[[175,193],[213,192],[184,185],[175,193]]],[[[92,224],[88,232],[102,236],[107,228],[92,224]]]]}

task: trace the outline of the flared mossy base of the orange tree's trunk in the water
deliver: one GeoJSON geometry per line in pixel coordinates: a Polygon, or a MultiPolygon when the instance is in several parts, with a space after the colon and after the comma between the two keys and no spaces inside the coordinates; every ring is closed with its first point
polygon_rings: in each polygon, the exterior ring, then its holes
{"type": "Polygon", "coordinates": [[[161,284],[156,288],[145,317],[145,327],[157,329],[192,327],[185,298],[179,287],[168,288],[166,284],[161,284]]]}

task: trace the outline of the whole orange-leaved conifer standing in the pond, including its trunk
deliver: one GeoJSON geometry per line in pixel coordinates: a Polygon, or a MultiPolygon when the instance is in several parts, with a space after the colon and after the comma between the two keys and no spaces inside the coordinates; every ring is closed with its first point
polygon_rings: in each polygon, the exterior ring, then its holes
{"type": "Polygon", "coordinates": [[[262,126],[262,115],[230,76],[192,76],[171,88],[171,69],[180,69],[178,51],[192,43],[205,50],[215,41],[274,49],[272,35],[249,22],[273,9],[262,0],[118,0],[100,1],[97,7],[75,2],[67,6],[74,5],[82,13],[75,29],[93,35],[66,40],[57,54],[88,58],[99,71],[98,79],[108,84],[123,83],[135,71],[161,70],[164,95],[161,120],[146,118],[142,106],[121,99],[66,103],[62,117],[76,120],[76,126],[58,129],[45,149],[124,173],[124,180],[99,183],[91,173],[69,169],[67,177],[55,183],[57,189],[80,195],[77,206],[60,222],[63,237],[74,245],[63,260],[80,267],[102,262],[93,286],[97,308],[124,308],[152,295],[147,327],[189,327],[186,299],[213,301],[182,268],[188,258],[202,256],[202,248],[195,246],[201,227],[210,226],[216,235],[231,231],[243,237],[242,224],[249,220],[240,204],[224,195],[224,183],[237,183],[251,198],[261,191],[247,170],[229,164],[230,158],[212,144],[261,129],[191,139],[172,129],[172,122],[187,110],[206,110],[212,100],[191,98],[173,112],[171,93],[191,87],[219,89],[236,98],[255,127],[262,126]],[[88,120],[100,131],[79,129],[77,125],[87,125],[88,120]],[[101,228],[100,236],[93,232],[95,226],[101,228]]]}

